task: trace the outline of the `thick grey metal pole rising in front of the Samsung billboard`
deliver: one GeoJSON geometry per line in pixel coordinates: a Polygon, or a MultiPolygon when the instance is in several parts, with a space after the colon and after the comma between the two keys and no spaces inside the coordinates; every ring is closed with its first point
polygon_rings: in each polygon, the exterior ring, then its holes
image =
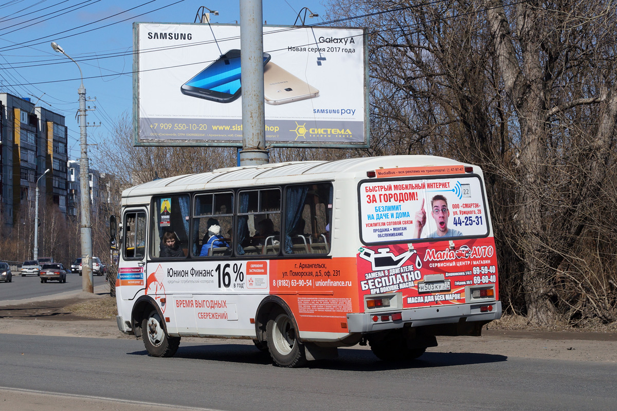
{"type": "Polygon", "coordinates": [[[240,0],[240,62],[242,67],[241,166],[268,163],[263,101],[262,0],[240,0]]]}

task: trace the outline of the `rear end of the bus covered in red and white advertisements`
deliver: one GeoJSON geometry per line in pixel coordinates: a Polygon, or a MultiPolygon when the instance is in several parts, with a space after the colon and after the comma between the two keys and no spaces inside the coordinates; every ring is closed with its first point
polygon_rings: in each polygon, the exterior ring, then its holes
{"type": "Polygon", "coordinates": [[[499,319],[497,257],[482,171],[453,160],[368,170],[358,181],[359,311],[350,333],[381,359],[499,319]]]}

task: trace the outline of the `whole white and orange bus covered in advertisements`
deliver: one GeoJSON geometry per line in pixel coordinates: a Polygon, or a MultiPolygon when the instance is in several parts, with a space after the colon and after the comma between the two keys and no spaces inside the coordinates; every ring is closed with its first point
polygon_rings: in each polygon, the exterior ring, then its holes
{"type": "Polygon", "coordinates": [[[151,356],[192,336],[252,339],[281,367],[366,343],[408,360],[502,312],[482,171],[447,158],[158,179],[122,193],[119,225],[118,328],[151,356]]]}

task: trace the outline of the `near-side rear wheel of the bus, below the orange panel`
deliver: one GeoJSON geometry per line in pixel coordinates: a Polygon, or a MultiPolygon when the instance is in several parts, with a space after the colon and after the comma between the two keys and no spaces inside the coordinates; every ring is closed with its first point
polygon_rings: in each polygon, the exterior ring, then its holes
{"type": "Polygon", "coordinates": [[[268,320],[268,351],[279,367],[302,367],[307,362],[304,344],[297,338],[295,324],[294,319],[283,310],[274,311],[268,320]]]}

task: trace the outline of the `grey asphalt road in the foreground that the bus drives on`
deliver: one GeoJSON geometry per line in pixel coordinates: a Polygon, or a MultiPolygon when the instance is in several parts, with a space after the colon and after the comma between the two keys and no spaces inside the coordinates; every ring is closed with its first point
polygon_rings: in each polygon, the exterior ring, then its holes
{"type": "Polygon", "coordinates": [[[141,340],[7,334],[0,347],[0,389],[152,408],[563,411],[614,410],[617,402],[617,368],[606,362],[429,352],[408,364],[385,364],[368,349],[351,348],[339,349],[336,360],[286,369],[251,344],[230,340],[183,343],[168,359],[147,356],[141,340]]]}

